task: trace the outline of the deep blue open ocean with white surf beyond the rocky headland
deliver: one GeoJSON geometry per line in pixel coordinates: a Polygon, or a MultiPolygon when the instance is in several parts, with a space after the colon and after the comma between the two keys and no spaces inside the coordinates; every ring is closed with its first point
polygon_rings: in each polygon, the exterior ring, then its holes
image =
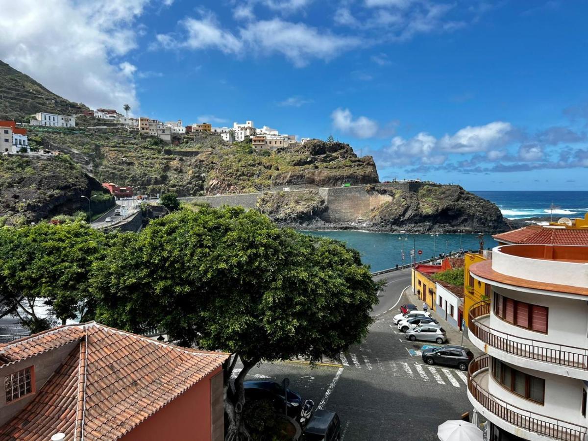
{"type": "Polygon", "coordinates": [[[539,216],[583,218],[588,212],[588,191],[479,191],[472,192],[498,205],[507,219],[539,216]]]}

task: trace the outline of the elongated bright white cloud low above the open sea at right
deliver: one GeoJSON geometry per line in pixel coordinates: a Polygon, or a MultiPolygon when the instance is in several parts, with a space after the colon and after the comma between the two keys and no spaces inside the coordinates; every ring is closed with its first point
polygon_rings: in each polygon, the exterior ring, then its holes
{"type": "Polygon", "coordinates": [[[455,135],[439,139],[440,150],[451,153],[485,152],[503,146],[512,140],[513,126],[509,122],[495,121],[483,126],[467,126],[455,135]]]}

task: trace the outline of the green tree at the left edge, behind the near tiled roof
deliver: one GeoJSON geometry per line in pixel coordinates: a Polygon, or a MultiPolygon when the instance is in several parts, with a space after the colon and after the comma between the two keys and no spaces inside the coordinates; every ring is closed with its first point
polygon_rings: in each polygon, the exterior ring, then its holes
{"type": "Polygon", "coordinates": [[[0,228],[0,316],[17,315],[31,332],[91,317],[88,274],[104,251],[105,235],[84,222],[0,228]]]}

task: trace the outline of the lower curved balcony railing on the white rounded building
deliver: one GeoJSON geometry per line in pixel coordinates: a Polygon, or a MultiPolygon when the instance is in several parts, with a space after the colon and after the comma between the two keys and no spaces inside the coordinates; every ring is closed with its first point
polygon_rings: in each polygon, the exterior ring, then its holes
{"type": "Polygon", "coordinates": [[[586,427],[521,409],[489,393],[477,380],[485,374],[490,375],[489,360],[489,356],[483,355],[472,360],[468,369],[467,389],[480,405],[507,423],[529,432],[561,441],[584,441],[586,427]]]}

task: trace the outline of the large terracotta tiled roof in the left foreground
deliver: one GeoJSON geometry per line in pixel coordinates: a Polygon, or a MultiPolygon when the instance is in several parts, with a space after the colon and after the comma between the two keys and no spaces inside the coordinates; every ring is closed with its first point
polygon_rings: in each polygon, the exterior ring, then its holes
{"type": "Polygon", "coordinates": [[[67,441],[119,439],[229,357],[166,345],[93,322],[32,336],[34,342],[19,340],[0,348],[0,356],[9,350],[11,359],[19,354],[28,358],[47,350],[43,342],[55,347],[52,342],[77,332],[79,342],[64,364],[14,419],[0,427],[0,439],[48,440],[58,432],[66,433],[67,441]]]}

